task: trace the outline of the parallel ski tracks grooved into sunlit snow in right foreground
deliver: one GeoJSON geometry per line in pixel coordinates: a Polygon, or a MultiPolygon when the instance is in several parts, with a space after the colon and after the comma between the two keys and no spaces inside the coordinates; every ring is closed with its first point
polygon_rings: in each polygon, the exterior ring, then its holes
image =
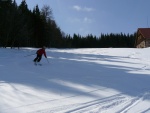
{"type": "MultiPolygon", "coordinates": [[[[124,105],[124,108],[116,111],[115,113],[127,113],[130,109],[132,109],[138,103],[143,101],[144,97],[145,96],[128,98],[125,95],[118,94],[112,97],[108,97],[105,99],[97,99],[95,101],[87,103],[59,106],[52,109],[44,109],[29,113],[109,113],[111,112],[112,108],[115,109],[120,105],[124,105]]],[[[53,102],[51,104],[53,104],[53,102]]],[[[146,113],[149,110],[150,108],[141,113],[146,113]]]]}

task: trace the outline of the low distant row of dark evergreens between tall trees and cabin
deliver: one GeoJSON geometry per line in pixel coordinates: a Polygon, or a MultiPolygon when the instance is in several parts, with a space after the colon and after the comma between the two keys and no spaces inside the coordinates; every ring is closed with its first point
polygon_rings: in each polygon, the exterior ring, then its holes
{"type": "Polygon", "coordinates": [[[67,48],[107,48],[107,47],[134,47],[136,33],[134,34],[101,34],[100,37],[91,35],[82,37],[74,34],[64,39],[67,48]]]}

